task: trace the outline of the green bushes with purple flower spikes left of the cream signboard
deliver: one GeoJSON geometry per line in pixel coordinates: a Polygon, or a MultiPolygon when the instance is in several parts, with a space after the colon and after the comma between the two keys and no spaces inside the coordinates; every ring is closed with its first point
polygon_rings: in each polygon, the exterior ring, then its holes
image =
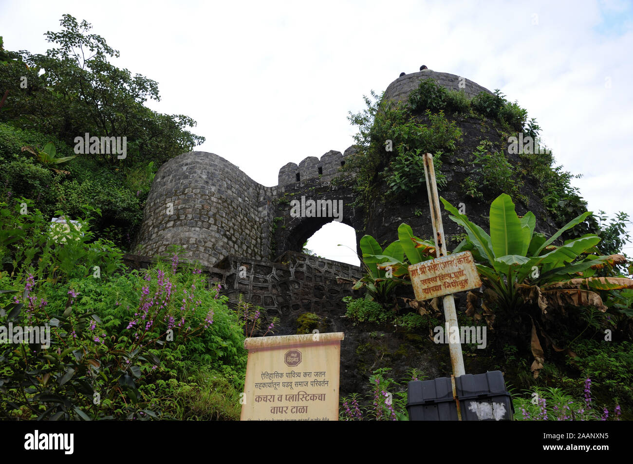
{"type": "Polygon", "coordinates": [[[208,290],[199,269],[177,272],[177,255],[120,274],[120,250],[91,241],[87,226],[58,243],[27,205],[0,204],[1,252],[13,258],[0,273],[0,324],[47,327],[49,346],[3,345],[0,417],[235,418],[244,323],[219,286],[208,290]],[[206,367],[186,375],[195,365],[206,367]],[[203,376],[210,365],[222,378],[203,376]]]}

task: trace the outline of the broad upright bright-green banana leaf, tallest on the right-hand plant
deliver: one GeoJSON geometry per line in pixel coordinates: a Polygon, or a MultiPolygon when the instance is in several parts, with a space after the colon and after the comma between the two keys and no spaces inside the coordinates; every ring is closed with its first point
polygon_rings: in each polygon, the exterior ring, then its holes
{"type": "Polygon", "coordinates": [[[490,205],[490,238],[494,255],[522,255],[523,249],[527,251],[530,244],[529,240],[523,244],[525,235],[510,195],[501,193],[490,205]]]}

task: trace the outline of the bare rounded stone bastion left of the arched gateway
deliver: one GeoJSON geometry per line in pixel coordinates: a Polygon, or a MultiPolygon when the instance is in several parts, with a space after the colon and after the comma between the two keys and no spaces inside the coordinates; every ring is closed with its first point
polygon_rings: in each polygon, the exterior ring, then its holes
{"type": "Polygon", "coordinates": [[[137,252],[154,257],[177,244],[184,259],[203,266],[227,255],[266,259],[276,192],[213,153],[172,158],[154,177],[137,252]]]}

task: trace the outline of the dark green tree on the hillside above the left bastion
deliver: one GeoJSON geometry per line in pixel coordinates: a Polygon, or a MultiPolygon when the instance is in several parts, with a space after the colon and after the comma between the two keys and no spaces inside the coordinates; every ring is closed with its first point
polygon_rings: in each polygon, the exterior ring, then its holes
{"type": "Polygon", "coordinates": [[[90,23],[78,23],[71,15],[63,15],[60,23],[61,32],[45,34],[48,42],[58,44],[45,55],[5,53],[9,60],[0,65],[0,89],[9,90],[9,99],[0,121],[37,128],[71,146],[86,132],[91,137],[127,137],[126,159],[84,155],[127,166],[161,164],[204,142],[204,137],[186,130],[196,125],[193,119],[144,106],[148,99],[160,101],[158,83],[109,63],[108,58],[119,52],[100,35],[88,34],[90,23]],[[41,69],[45,72],[39,75],[41,69]]]}

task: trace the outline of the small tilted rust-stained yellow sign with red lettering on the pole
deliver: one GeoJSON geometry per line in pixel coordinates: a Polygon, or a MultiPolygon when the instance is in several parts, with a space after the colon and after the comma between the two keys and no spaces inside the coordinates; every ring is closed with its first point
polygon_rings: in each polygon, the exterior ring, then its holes
{"type": "Polygon", "coordinates": [[[412,264],[409,266],[409,275],[418,301],[481,286],[479,272],[470,252],[412,264]]]}

